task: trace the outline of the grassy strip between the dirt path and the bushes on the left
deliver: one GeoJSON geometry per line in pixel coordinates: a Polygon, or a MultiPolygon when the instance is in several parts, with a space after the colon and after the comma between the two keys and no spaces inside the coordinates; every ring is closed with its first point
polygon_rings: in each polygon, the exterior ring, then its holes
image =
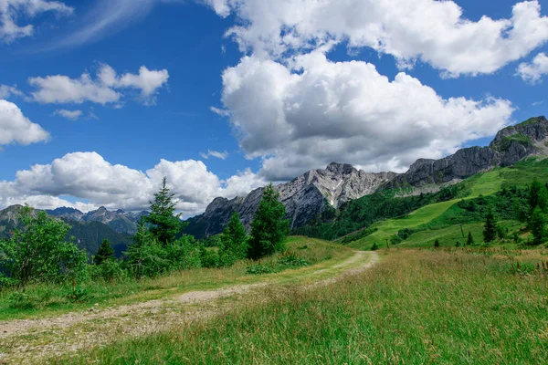
{"type": "MultiPolygon", "coordinates": [[[[348,257],[354,254],[353,249],[342,247],[307,237],[288,238],[288,248],[300,257],[311,262],[312,266],[299,270],[286,270],[277,274],[264,276],[246,275],[248,262],[241,261],[235,266],[222,269],[194,269],[174,273],[169,276],[161,276],[153,279],[143,280],[121,280],[114,283],[91,282],[82,283],[88,297],[81,303],[71,303],[67,295],[72,293],[72,286],[67,285],[40,285],[25,288],[25,294],[29,297],[21,305],[15,306],[14,291],[0,291],[0,320],[15,318],[52,317],[71,311],[85,310],[100,304],[101,308],[127,305],[146,300],[163,297],[174,297],[184,292],[194,290],[207,290],[218,287],[233,285],[253,284],[264,281],[276,281],[288,283],[292,280],[310,278],[307,276],[313,271],[326,269],[322,275],[314,276],[314,279],[321,279],[325,276],[332,276],[338,273],[332,269],[348,257]],[[23,308],[22,308],[23,307],[23,308]],[[26,308],[25,308],[26,307],[26,308]]],[[[276,256],[263,260],[263,264],[275,260],[276,256]]]]}

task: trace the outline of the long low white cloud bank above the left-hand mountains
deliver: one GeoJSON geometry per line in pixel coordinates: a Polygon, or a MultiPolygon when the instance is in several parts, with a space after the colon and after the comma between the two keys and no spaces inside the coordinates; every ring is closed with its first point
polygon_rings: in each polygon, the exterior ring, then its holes
{"type": "Polygon", "coordinates": [[[14,181],[0,182],[0,206],[14,202],[40,203],[42,208],[79,206],[90,210],[104,205],[111,209],[147,209],[153,193],[167,178],[175,194],[177,209],[185,215],[204,212],[217,196],[232,198],[264,185],[251,171],[226,181],[209,172],[204,162],[161,160],[146,172],[105,161],[96,152],[68,153],[49,164],[37,164],[16,173],[14,181]],[[73,196],[87,203],[69,203],[73,196]]]}

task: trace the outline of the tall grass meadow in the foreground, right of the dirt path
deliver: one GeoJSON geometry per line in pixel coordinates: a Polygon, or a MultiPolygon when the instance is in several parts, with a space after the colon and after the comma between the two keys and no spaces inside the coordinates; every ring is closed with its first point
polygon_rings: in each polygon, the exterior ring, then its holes
{"type": "Polygon", "coordinates": [[[222,317],[52,363],[548,363],[548,252],[391,250],[311,290],[270,290],[222,317]],[[515,269],[521,261],[524,271],[515,269]]]}

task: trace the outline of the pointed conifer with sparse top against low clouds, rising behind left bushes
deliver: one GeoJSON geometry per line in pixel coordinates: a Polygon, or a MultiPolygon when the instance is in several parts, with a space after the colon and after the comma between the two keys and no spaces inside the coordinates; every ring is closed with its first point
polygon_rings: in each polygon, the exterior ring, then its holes
{"type": "Polygon", "coordinates": [[[174,215],[175,203],[174,193],[166,186],[167,181],[163,178],[162,188],[158,193],[154,193],[154,201],[151,203],[151,214],[144,217],[144,221],[151,224],[151,233],[158,238],[163,245],[175,240],[175,236],[183,228],[179,219],[181,214],[174,215]]]}

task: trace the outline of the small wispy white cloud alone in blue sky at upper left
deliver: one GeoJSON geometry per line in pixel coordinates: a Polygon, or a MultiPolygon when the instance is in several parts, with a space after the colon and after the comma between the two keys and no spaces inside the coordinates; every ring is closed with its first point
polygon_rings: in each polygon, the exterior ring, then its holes
{"type": "Polygon", "coordinates": [[[41,103],[81,104],[90,101],[98,104],[115,104],[123,95],[119,89],[138,89],[145,104],[153,104],[155,94],[167,83],[167,70],[149,70],[142,66],[139,74],[126,73],[118,76],[109,65],[100,65],[97,77],[89,73],[79,78],[55,75],[46,78],[29,78],[28,83],[37,88],[32,98],[41,103]]]}

